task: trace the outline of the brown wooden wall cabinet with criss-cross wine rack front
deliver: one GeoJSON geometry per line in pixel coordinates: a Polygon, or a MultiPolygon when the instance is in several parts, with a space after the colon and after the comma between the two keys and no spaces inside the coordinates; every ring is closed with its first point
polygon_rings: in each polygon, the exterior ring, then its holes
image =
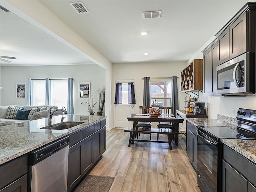
{"type": "Polygon", "coordinates": [[[194,59],[180,72],[181,92],[203,90],[203,60],[194,59]]]}

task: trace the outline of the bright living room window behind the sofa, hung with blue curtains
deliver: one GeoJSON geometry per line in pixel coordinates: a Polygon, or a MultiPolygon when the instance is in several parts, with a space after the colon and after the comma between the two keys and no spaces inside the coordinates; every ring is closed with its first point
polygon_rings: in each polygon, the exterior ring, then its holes
{"type": "MultiPolygon", "coordinates": [[[[50,79],[50,105],[63,106],[68,104],[68,79],[50,79]]],[[[46,82],[45,80],[32,80],[32,105],[45,105],[46,82]]]]}

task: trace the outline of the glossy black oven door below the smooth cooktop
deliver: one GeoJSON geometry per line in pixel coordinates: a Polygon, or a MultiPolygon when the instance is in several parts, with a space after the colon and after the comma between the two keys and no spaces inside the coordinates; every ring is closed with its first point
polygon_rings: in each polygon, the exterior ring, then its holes
{"type": "Polygon", "coordinates": [[[197,132],[197,183],[202,192],[217,192],[218,143],[197,132]]]}

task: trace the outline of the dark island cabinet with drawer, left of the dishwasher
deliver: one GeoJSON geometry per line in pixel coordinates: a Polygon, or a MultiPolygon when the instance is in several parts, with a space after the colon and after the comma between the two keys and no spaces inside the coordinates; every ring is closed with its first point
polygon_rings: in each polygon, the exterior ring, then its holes
{"type": "Polygon", "coordinates": [[[27,154],[0,167],[0,192],[27,192],[27,154]]]}

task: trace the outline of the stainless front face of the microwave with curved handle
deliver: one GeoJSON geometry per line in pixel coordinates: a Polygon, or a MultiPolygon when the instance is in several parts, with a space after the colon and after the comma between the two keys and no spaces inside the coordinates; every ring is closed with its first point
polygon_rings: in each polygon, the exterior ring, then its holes
{"type": "Polygon", "coordinates": [[[218,94],[246,92],[244,83],[245,62],[246,54],[243,54],[217,66],[218,94]]]}

